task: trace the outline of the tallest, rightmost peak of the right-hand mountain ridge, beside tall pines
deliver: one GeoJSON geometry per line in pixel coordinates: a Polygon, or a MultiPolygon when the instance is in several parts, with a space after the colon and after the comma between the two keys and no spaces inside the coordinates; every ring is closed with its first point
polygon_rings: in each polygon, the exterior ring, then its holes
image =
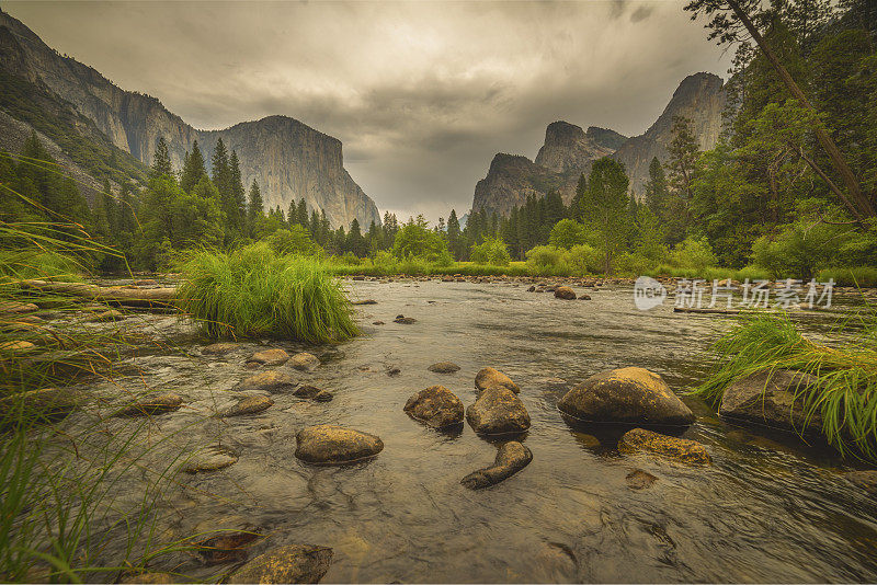
{"type": "Polygon", "coordinates": [[[667,147],[673,140],[673,117],[683,116],[692,121],[701,150],[716,146],[726,99],[725,85],[718,76],[695,73],[682,80],[654,124],[645,134],[627,140],[613,154],[627,169],[634,193],[639,196],[645,193],[652,158],[667,162],[667,147]]]}

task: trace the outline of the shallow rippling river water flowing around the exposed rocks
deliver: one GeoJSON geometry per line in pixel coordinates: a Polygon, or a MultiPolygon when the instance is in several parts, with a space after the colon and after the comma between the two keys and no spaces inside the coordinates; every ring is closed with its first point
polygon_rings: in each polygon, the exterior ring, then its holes
{"type": "MultiPolygon", "coordinates": [[[[704,443],[714,459],[711,467],[691,468],[620,456],[605,437],[595,444],[591,433],[604,429],[572,429],[557,411],[565,388],[615,367],[648,368],[684,391],[707,371],[704,351],[727,318],[674,314],[669,307],[641,312],[629,288],[562,301],[510,284],[349,286],[354,298],[377,301],[357,307],[362,336],[316,348],[264,342],[320,356],[312,374],[281,369],[332,391],[334,400],[274,394],[273,408],[251,416],[208,418],[253,374],[243,363],[259,342],[205,356],[201,348],[209,342],[173,318],[135,318],[164,326],[187,353],[136,358],[147,385],[186,401],[153,417],[144,436],[192,448],[220,444],[239,456],[221,471],[178,478],[161,509],[169,537],[246,520],[266,535],[251,555],[296,542],[333,548],[324,583],[877,581],[877,502],[843,480],[843,462],[824,450],[728,426],[685,398],[698,418],[684,437],[704,443]],[[417,323],[394,323],[400,313],[417,323]],[[376,320],[386,324],[373,325],[376,320]],[[462,369],[426,370],[442,360],[462,369]],[[402,405],[412,393],[443,385],[468,406],[475,374],[485,366],[521,387],[533,422],[523,439],[533,462],[502,483],[470,491],[459,480],[491,464],[496,444],[468,425],[456,435],[432,431],[402,405]],[[389,376],[392,367],[400,372],[389,376]],[[385,448],[352,466],[305,464],[293,455],[295,435],[321,423],[376,434],[385,448]],[[635,469],[658,481],[628,487],[625,478],[635,469]]],[[[115,420],[107,429],[124,424],[130,423],[115,420]]],[[[123,489],[137,496],[134,484],[123,489]]],[[[216,572],[185,559],[155,569],[216,572]]]]}

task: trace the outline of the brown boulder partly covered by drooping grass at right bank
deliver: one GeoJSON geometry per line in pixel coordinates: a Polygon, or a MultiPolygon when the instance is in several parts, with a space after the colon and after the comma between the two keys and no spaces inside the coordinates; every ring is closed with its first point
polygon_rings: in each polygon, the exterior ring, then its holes
{"type": "Polygon", "coordinates": [[[822,432],[821,413],[815,412],[807,421],[802,400],[795,400],[796,391],[816,383],[813,376],[801,371],[775,369],[753,374],[725,389],[719,414],[741,423],[819,435],[822,432]]]}

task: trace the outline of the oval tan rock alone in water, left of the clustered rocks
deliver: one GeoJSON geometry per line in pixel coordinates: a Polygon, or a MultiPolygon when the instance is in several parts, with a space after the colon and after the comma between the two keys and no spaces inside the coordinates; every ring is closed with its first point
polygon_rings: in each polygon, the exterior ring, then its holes
{"type": "Polygon", "coordinates": [[[350,463],[374,457],[384,449],[379,437],[337,425],[303,428],[295,439],[295,456],[308,463],[350,463]]]}

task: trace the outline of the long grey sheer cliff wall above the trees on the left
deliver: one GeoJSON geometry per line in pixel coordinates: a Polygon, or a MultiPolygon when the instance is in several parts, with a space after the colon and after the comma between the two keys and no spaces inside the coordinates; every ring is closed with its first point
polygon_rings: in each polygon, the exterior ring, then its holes
{"type": "Polygon", "coordinates": [[[0,12],[2,27],[11,34],[3,44],[0,69],[42,83],[139,161],[150,164],[163,137],[179,170],[195,140],[205,160],[210,160],[221,138],[228,150],[238,154],[243,184],[249,188],[253,180],[259,182],[266,209],[278,205],[287,209],[293,199],[304,197],[309,209],[323,209],[333,227],[346,227],[354,218],[364,229],[372,221],[380,223],[375,203],[344,170],[337,138],[286,116],[244,122],[224,130],[197,130],[157,99],[117,88],[94,69],[54,51],[24,24],[0,12]]]}

